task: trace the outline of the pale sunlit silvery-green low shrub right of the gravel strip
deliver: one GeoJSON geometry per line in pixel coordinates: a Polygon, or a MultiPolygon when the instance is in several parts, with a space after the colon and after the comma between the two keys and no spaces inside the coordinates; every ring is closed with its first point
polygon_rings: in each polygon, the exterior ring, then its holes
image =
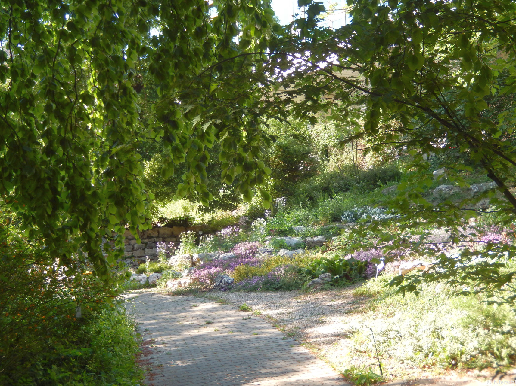
{"type": "Polygon", "coordinates": [[[457,296],[453,287],[432,283],[419,295],[385,288],[389,277],[369,280],[356,294],[374,296],[357,326],[355,348],[415,366],[504,367],[516,361],[516,312],[490,305],[483,295],[457,296]]]}

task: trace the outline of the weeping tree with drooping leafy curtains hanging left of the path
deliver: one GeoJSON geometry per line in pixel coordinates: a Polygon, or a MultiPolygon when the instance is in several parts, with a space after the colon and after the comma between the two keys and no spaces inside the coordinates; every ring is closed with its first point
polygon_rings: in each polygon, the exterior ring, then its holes
{"type": "Polygon", "coordinates": [[[120,247],[125,226],[147,226],[145,141],[163,142],[164,178],[186,163],[176,195],[204,204],[218,141],[220,178],[250,200],[270,173],[260,69],[280,31],[273,14],[268,0],[2,2],[2,241],[16,224],[49,259],[67,266],[87,254],[107,279],[122,251],[103,251],[103,237],[116,234],[120,247]],[[139,115],[141,59],[157,86],[151,122],[139,115]]]}

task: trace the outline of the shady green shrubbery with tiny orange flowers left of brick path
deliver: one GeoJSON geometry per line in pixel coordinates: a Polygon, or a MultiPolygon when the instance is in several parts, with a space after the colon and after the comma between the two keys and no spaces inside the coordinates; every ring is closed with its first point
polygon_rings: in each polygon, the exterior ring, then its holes
{"type": "Polygon", "coordinates": [[[114,287],[81,265],[49,270],[37,248],[0,255],[0,384],[137,383],[135,324],[114,287]]]}

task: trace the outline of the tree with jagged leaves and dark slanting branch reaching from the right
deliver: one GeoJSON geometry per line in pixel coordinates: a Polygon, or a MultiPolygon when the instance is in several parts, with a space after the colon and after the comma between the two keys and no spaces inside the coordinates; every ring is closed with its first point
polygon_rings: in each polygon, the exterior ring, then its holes
{"type": "MultiPolygon", "coordinates": [[[[440,165],[449,168],[448,178],[464,186],[459,172],[481,167],[503,195],[491,200],[505,214],[502,222],[514,220],[516,198],[510,189],[516,182],[516,156],[509,139],[514,111],[506,110],[496,120],[483,114],[490,94],[514,91],[514,3],[358,0],[349,3],[352,22],[336,30],[317,25],[320,3],[299,5],[307,6],[307,17],[291,24],[291,35],[273,57],[271,73],[291,69],[280,75],[278,101],[314,121],[315,114],[324,111],[353,125],[355,133],[345,143],[360,138],[368,150],[389,145],[413,155],[409,170],[417,172],[398,187],[391,203],[398,215],[391,222],[406,231],[407,238],[393,239],[388,227],[378,224],[369,231],[377,232],[386,249],[415,248],[437,256],[446,270],[433,271],[426,275],[429,279],[475,278],[481,283],[477,290],[510,282],[514,272],[502,275],[499,269],[505,253],[514,256],[512,247],[491,250],[491,259],[472,266],[485,251],[464,250],[459,258],[449,258],[423,244],[424,235],[416,229],[429,222],[449,227],[451,243],[456,244],[466,237],[460,220],[467,210],[475,210],[475,201],[488,195],[457,205],[447,200],[434,206],[425,200],[432,169],[423,154],[439,157],[450,149],[466,157],[440,165]],[[296,103],[301,97],[304,103],[296,103]]],[[[415,283],[405,288],[415,289],[415,283]]]]}

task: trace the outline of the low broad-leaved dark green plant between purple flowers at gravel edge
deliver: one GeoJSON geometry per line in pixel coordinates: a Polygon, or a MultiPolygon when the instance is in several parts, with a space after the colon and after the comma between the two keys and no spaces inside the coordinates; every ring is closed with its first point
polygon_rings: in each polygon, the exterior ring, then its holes
{"type": "Polygon", "coordinates": [[[366,265],[365,261],[345,259],[336,254],[333,257],[315,259],[307,266],[304,274],[314,278],[323,273],[330,273],[334,280],[341,278],[354,282],[364,277],[366,265]]]}

